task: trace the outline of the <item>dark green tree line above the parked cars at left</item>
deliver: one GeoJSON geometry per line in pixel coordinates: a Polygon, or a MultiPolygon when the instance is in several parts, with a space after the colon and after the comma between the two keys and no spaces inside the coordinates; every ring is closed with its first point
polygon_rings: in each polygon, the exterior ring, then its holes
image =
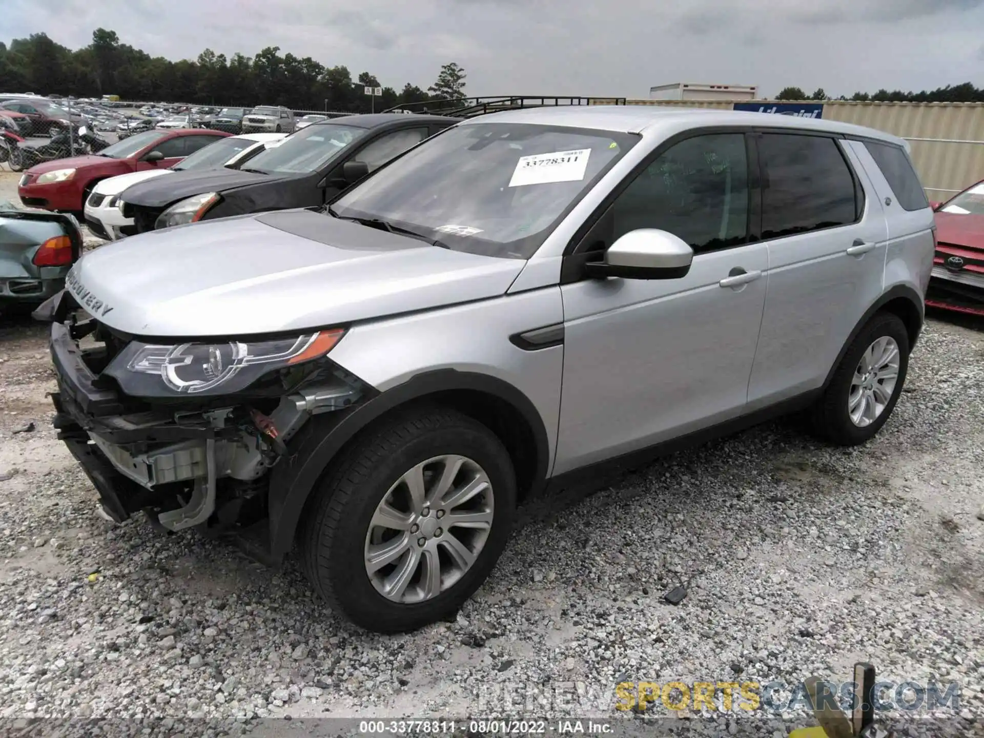
{"type": "Polygon", "coordinates": [[[0,41],[0,92],[369,112],[373,100],[366,87],[383,88],[375,99],[377,111],[461,97],[464,91],[464,70],[455,63],[444,65],[426,91],[406,83],[397,92],[369,72],[352,79],[345,66],[279,52],[279,46],[268,46],[252,57],[236,52],[226,58],[207,48],[196,60],[171,61],[121,43],[116,31],[106,29],[92,31],[92,43],[74,51],[45,33],[31,33],[9,46],[0,41]]]}

